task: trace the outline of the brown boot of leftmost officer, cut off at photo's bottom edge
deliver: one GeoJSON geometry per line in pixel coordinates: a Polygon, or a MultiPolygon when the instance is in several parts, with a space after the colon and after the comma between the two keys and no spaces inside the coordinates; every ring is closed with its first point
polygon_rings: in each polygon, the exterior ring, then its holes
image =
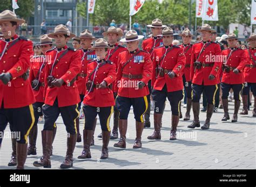
{"type": "Polygon", "coordinates": [[[17,168],[24,169],[26,162],[26,155],[28,150],[28,143],[16,143],[17,144],[17,168]]]}

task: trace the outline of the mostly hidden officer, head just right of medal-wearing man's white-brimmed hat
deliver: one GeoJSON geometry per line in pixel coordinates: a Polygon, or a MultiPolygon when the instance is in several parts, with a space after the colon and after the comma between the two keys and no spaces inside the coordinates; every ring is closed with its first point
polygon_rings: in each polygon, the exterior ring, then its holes
{"type": "MultiPolygon", "coordinates": [[[[152,32],[152,36],[146,38],[145,40],[143,40],[142,42],[142,50],[147,51],[150,53],[150,58],[152,60],[153,56],[153,49],[155,49],[156,47],[159,47],[161,45],[163,45],[163,38],[161,37],[161,32],[163,30],[164,27],[166,27],[166,25],[163,25],[162,21],[160,19],[154,19],[152,20],[151,25],[147,25],[147,27],[151,27],[151,32],[152,32]]],[[[149,92],[150,94],[147,95],[147,102],[148,102],[148,106],[147,107],[147,111],[144,114],[145,117],[145,127],[150,127],[150,95],[151,95],[151,80],[149,81],[149,92]]]]}

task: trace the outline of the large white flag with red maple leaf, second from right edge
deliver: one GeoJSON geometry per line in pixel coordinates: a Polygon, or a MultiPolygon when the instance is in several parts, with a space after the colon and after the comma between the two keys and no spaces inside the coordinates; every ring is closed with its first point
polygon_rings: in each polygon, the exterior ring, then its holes
{"type": "Polygon", "coordinates": [[[203,20],[218,21],[218,0],[204,0],[203,20]]]}

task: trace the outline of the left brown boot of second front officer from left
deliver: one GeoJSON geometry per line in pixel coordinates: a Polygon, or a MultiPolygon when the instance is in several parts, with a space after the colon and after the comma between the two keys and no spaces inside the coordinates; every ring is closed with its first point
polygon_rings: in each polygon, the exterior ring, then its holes
{"type": "Polygon", "coordinates": [[[50,153],[53,142],[53,130],[42,130],[43,156],[40,160],[33,162],[35,167],[51,168],[50,153]]]}

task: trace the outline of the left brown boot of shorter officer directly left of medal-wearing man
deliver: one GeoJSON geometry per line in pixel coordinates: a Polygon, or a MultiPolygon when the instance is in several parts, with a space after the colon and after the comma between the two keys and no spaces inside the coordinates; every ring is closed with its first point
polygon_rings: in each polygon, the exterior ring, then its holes
{"type": "Polygon", "coordinates": [[[79,159],[90,159],[91,158],[91,151],[90,151],[90,144],[92,140],[92,134],[93,130],[83,130],[83,136],[84,136],[84,149],[80,156],[78,156],[79,159]]]}

